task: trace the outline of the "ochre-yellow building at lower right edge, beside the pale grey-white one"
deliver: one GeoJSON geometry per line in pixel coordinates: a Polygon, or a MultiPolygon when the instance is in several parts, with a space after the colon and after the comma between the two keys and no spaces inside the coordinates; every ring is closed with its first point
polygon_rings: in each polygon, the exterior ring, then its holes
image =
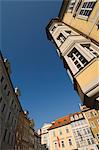
{"type": "Polygon", "coordinates": [[[96,144],[99,146],[99,110],[90,109],[86,106],[80,106],[80,109],[89,123],[91,131],[96,139],[96,144]]]}

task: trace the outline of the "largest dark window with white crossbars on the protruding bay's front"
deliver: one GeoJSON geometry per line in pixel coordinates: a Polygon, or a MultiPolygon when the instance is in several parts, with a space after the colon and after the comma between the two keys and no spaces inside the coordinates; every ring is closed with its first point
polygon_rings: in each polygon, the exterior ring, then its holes
{"type": "Polygon", "coordinates": [[[82,54],[80,54],[80,52],[76,48],[72,49],[72,51],[68,54],[68,57],[72,59],[74,65],[79,70],[88,63],[88,61],[83,57],[82,54]]]}

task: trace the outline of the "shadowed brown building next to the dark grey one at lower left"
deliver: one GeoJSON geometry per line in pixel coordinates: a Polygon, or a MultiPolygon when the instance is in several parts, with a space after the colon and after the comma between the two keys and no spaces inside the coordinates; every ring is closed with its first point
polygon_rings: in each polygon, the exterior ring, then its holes
{"type": "Polygon", "coordinates": [[[15,150],[34,150],[35,130],[27,111],[20,111],[16,129],[15,150]]]}

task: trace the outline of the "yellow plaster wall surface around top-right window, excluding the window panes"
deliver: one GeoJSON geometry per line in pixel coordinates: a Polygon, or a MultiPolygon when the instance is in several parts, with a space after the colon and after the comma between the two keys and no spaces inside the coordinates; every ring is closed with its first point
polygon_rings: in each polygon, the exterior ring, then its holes
{"type": "Polygon", "coordinates": [[[99,13],[99,1],[96,2],[93,11],[91,12],[87,20],[82,19],[78,15],[76,15],[76,17],[73,17],[72,13],[67,12],[65,13],[62,21],[72,26],[73,28],[79,30],[80,32],[88,35],[95,41],[99,42],[99,29],[97,29],[97,26],[95,25],[96,21],[99,20],[99,16],[96,19],[98,13],[99,13]]]}

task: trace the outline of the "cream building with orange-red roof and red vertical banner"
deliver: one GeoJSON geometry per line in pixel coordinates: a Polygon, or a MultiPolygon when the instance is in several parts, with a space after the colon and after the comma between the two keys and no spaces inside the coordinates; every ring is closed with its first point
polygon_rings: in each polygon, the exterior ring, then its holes
{"type": "Polygon", "coordinates": [[[50,150],[76,150],[76,141],[70,125],[70,116],[65,116],[52,122],[48,129],[50,150]]]}

